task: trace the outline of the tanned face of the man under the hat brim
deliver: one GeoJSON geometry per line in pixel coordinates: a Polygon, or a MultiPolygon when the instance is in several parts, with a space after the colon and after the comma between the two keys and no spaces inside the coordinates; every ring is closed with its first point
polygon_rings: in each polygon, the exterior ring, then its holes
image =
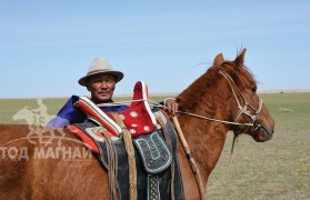
{"type": "Polygon", "coordinates": [[[91,99],[97,102],[110,101],[116,89],[116,78],[110,74],[99,74],[90,77],[87,89],[91,93],[91,99]]]}

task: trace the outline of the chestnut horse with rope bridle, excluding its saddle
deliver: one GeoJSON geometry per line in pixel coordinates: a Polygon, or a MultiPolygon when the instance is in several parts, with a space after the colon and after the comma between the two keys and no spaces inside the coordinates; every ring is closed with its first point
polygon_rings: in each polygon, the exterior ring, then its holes
{"type": "MultiPolygon", "coordinates": [[[[256,93],[252,74],[243,66],[244,53],[242,50],[233,61],[224,61],[218,54],[213,66],[177,97],[180,127],[203,188],[228,130],[236,136],[250,134],[259,142],[271,139],[273,133],[273,119],[256,93]]],[[[97,158],[84,153],[86,148],[77,137],[69,131],[63,137],[62,129],[40,130],[54,131],[53,139],[58,142],[47,144],[38,139],[33,144],[36,138],[32,143],[28,141],[28,126],[0,126],[0,199],[108,199],[107,170],[97,158]]],[[[186,199],[200,199],[182,146],[178,148],[178,157],[186,199]]]]}

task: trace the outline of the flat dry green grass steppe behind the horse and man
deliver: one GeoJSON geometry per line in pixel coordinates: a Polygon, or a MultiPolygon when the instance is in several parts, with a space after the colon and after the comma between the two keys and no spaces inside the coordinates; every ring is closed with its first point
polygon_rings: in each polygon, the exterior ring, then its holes
{"type": "MultiPolygon", "coordinates": [[[[207,198],[217,199],[310,199],[310,93],[262,93],[260,97],[276,121],[272,140],[258,143],[240,136],[230,154],[228,133],[220,160],[208,181],[207,198]],[[230,161],[229,161],[230,160],[230,161]]],[[[164,97],[150,97],[154,101],[164,97]]],[[[116,101],[128,98],[116,98],[116,101]]],[[[37,99],[1,99],[0,122],[13,121],[23,107],[38,108],[37,99]]],[[[47,98],[54,116],[67,98],[47,98]]],[[[193,151],[193,150],[192,150],[193,151]]]]}

